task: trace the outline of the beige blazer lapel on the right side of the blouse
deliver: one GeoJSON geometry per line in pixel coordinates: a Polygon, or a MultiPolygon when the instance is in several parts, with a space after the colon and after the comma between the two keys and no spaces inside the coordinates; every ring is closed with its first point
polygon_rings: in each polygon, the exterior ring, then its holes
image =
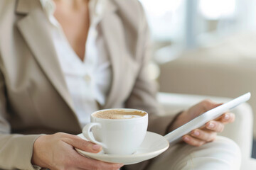
{"type": "Polygon", "coordinates": [[[122,49],[122,47],[124,47],[124,45],[122,45],[122,42],[124,42],[124,40],[122,40],[122,35],[124,34],[119,27],[120,23],[117,18],[117,14],[114,13],[116,10],[117,8],[112,4],[112,1],[107,1],[107,11],[105,11],[105,16],[100,22],[102,34],[104,36],[107,50],[110,55],[110,62],[112,64],[112,85],[104,108],[112,108],[115,106],[118,102],[117,96],[120,92],[119,89],[122,86],[122,83],[125,83],[119,81],[119,77],[122,77],[122,74],[125,72],[122,68],[126,62],[126,57],[121,57],[125,52],[125,50],[122,49]]]}

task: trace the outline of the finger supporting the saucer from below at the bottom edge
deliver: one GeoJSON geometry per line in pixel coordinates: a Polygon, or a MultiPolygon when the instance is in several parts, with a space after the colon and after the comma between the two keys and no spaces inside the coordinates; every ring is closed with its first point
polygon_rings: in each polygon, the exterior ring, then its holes
{"type": "Polygon", "coordinates": [[[78,159],[75,162],[80,169],[102,169],[102,170],[117,170],[120,169],[124,164],[114,164],[108,162],[101,162],[95,159],[83,157],[79,154],[78,159]]]}

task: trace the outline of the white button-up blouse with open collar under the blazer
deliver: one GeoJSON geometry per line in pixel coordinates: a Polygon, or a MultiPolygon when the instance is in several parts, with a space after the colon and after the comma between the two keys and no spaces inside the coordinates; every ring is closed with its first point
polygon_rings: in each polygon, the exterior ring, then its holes
{"type": "Polygon", "coordinates": [[[110,90],[112,69],[105,42],[98,23],[102,19],[105,0],[90,0],[90,28],[85,45],[85,60],[82,61],[70,46],[63,29],[53,16],[53,0],[41,0],[43,10],[55,31],[52,33],[65,82],[73,98],[75,113],[83,127],[90,123],[90,114],[105,104],[110,90]]]}

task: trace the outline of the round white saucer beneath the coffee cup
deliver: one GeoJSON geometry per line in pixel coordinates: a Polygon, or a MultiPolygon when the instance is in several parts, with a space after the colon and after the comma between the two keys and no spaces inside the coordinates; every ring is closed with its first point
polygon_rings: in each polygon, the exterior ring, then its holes
{"type": "MultiPolygon", "coordinates": [[[[82,134],[79,134],[78,136],[84,140],[87,140],[82,134]]],[[[158,156],[162,152],[166,151],[168,147],[169,142],[163,136],[154,132],[146,132],[146,137],[144,138],[142,145],[134,154],[105,154],[103,152],[95,154],[91,152],[85,152],[77,148],[75,149],[85,157],[97,159],[102,162],[136,164],[138,162],[142,162],[158,156]]]]}

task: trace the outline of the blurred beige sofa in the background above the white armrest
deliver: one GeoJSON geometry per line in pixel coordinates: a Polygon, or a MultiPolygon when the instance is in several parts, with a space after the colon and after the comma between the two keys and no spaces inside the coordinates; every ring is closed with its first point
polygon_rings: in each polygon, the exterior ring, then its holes
{"type": "MultiPolygon", "coordinates": [[[[161,52],[170,55],[171,52],[161,52]]],[[[235,33],[208,46],[176,53],[159,64],[161,92],[235,98],[247,92],[256,113],[256,32],[235,33]]],[[[256,140],[256,116],[254,116],[256,140]]]]}

